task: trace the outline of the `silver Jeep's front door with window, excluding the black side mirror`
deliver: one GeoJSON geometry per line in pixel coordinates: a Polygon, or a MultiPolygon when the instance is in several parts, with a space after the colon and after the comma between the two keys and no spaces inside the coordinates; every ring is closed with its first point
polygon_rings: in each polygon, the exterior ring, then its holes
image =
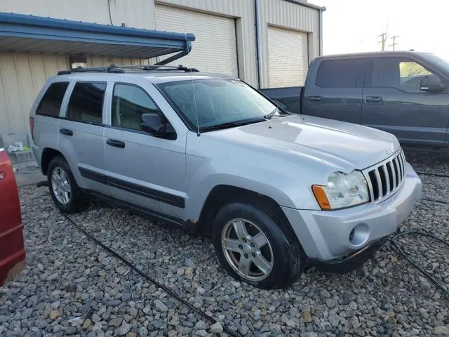
{"type": "MultiPolygon", "coordinates": [[[[144,90],[133,84],[114,84],[110,125],[105,128],[107,181],[112,197],[156,215],[182,218],[185,210],[186,135],[158,138],[140,129],[144,113],[157,112],[167,120],[144,90]]],[[[160,95],[160,94],[159,94],[160,95]]],[[[187,133],[187,131],[186,131],[187,133]]]]}

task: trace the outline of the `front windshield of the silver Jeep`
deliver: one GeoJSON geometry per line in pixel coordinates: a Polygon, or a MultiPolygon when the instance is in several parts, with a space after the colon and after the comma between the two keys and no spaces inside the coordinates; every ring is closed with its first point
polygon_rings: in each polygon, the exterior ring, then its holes
{"type": "Polygon", "coordinates": [[[157,87],[192,130],[213,131],[288,114],[236,79],[196,79],[157,87]]]}

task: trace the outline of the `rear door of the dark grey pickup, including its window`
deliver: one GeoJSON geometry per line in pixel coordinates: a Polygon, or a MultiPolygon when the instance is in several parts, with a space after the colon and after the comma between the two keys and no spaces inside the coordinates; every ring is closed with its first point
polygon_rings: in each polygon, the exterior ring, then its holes
{"type": "Polygon", "coordinates": [[[317,60],[310,68],[302,100],[303,114],[361,123],[366,60],[317,60]]]}

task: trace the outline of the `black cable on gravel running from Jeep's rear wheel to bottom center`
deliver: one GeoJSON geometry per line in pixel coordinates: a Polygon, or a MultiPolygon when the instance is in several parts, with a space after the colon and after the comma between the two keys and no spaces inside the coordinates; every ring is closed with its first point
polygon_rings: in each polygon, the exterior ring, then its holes
{"type": "MultiPolygon", "coordinates": [[[[76,227],[77,230],[79,230],[80,232],[82,232],[84,235],[86,235],[86,237],[88,237],[88,239],[91,239],[93,242],[95,242],[95,244],[98,244],[98,246],[101,246],[102,249],[105,249],[105,251],[107,251],[108,253],[110,253],[112,256],[114,256],[115,258],[121,260],[121,262],[125,263],[126,265],[128,265],[128,267],[130,267],[132,270],[134,270],[135,272],[138,272],[138,274],[140,276],[142,276],[143,278],[147,279],[147,281],[151,282],[152,284],[154,284],[155,286],[158,286],[160,289],[162,289],[163,291],[165,291],[169,296],[175,298],[176,300],[178,300],[179,302],[181,302],[182,304],[186,305],[187,308],[193,310],[194,312],[196,312],[197,314],[199,314],[201,317],[207,319],[209,322],[211,322],[212,324],[215,324],[217,322],[217,320],[211,316],[209,316],[208,314],[206,314],[206,312],[203,312],[197,308],[195,308],[192,304],[190,304],[189,302],[187,302],[187,300],[185,300],[184,298],[180,297],[177,293],[175,293],[175,291],[173,291],[172,289],[168,288],[167,286],[164,286],[163,284],[159,283],[156,281],[156,279],[153,279],[152,277],[150,277],[149,275],[145,274],[145,272],[142,272],[142,270],[140,270],[138,267],[136,267],[135,265],[133,265],[133,263],[130,263],[128,260],[126,260],[126,258],[123,258],[123,256],[121,256],[119,253],[116,253],[116,251],[114,251],[113,249],[110,249],[108,246],[106,246],[105,244],[103,244],[102,242],[100,242],[98,239],[96,239],[95,237],[93,237],[92,234],[90,234],[89,232],[87,232],[81,225],[77,224],[74,220],[72,220],[72,218],[69,218],[69,216],[62,214],[62,216],[64,216],[64,218],[69,221],[69,223],[72,223],[72,225],[74,225],[74,227],[76,227]]],[[[234,337],[242,337],[240,333],[237,333],[235,331],[229,330],[227,329],[225,326],[223,326],[223,331],[226,333],[229,333],[229,335],[234,336],[234,337]]]]}

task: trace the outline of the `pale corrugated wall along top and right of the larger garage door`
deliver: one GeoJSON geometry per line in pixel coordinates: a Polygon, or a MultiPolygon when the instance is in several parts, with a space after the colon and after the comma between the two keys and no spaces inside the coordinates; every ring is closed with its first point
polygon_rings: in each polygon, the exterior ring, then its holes
{"type": "MultiPolygon", "coordinates": [[[[257,86],[253,0],[156,0],[156,4],[166,4],[235,18],[239,77],[257,86]]],[[[158,29],[157,26],[156,29],[158,29]]],[[[195,42],[192,43],[192,48],[195,48],[195,42]]]]}

